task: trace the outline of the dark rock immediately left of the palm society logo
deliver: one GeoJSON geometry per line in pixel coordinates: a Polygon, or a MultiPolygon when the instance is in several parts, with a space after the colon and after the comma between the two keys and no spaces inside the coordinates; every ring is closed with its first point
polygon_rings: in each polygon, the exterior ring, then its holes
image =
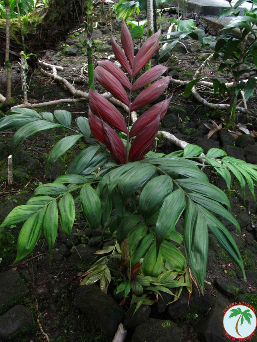
{"type": "Polygon", "coordinates": [[[231,304],[221,294],[213,299],[209,314],[202,320],[199,320],[195,325],[195,332],[198,338],[203,342],[225,342],[228,339],[225,336],[225,331],[222,324],[222,311],[226,306],[231,304]]]}

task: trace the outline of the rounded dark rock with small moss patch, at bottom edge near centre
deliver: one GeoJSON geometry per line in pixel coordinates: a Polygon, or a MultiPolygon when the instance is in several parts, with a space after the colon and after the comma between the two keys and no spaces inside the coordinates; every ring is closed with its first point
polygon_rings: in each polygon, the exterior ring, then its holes
{"type": "Polygon", "coordinates": [[[182,333],[170,320],[150,318],[136,327],[131,342],[180,342],[182,333]]]}

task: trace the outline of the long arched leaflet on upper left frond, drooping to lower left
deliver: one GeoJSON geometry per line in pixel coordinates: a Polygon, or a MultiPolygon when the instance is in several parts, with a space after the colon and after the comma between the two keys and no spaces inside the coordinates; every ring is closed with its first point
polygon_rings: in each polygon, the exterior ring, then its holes
{"type": "Polygon", "coordinates": [[[37,120],[34,122],[30,122],[22,126],[17,130],[17,132],[13,135],[11,141],[11,147],[15,149],[17,145],[27,139],[30,135],[43,131],[50,128],[61,127],[62,125],[59,123],[48,122],[45,120],[37,120]]]}

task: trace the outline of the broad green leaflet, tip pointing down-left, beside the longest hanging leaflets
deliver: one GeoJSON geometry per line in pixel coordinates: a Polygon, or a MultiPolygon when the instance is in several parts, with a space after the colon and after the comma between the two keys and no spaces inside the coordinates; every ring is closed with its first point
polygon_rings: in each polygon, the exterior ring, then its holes
{"type": "Polygon", "coordinates": [[[156,223],[155,236],[157,253],[163,240],[174,229],[183,210],[185,209],[185,195],[182,189],[173,191],[163,202],[156,223]]]}

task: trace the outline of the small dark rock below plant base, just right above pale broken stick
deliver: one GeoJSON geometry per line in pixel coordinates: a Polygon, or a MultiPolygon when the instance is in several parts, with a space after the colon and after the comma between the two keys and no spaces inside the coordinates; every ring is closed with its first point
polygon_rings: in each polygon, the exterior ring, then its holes
{"type": "Polygon", "coordinates": [[[147,321],[150,316],[150,306],[141,305],[134,313],[136,304],[132,305],[130,310],[125,315],[124,325],[127,329],[135,329],[140,323],[147,321]]]}

